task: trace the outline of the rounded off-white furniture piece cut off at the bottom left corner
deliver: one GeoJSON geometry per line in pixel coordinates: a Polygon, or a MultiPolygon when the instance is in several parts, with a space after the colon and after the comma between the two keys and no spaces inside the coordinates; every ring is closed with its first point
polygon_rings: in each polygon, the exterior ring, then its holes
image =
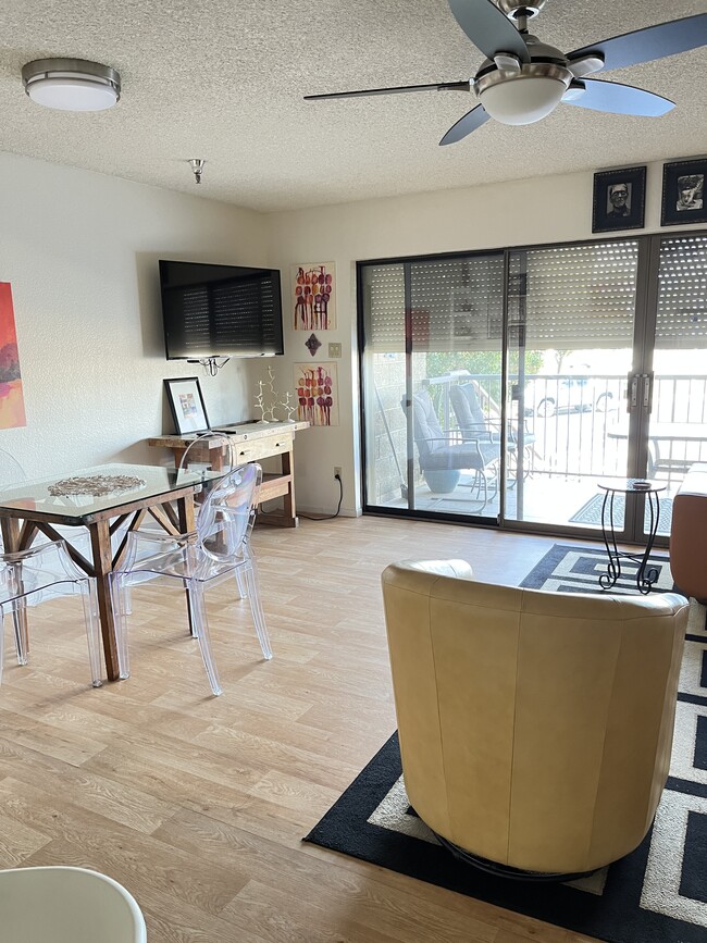
{"type": "Polygon", "coordinates": [[[147,943],[145,918],[117,881],[67,866],[0,871],[5,943],[147,943]]]}

